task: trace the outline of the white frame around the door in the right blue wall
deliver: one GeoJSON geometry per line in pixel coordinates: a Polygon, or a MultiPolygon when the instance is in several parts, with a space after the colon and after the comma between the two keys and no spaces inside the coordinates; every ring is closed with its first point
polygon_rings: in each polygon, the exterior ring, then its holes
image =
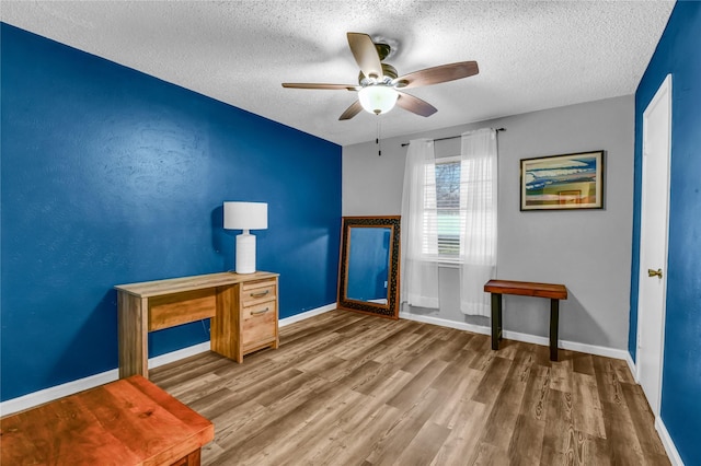
{"type": "MultiPolygon", "coordinates": [[[[668,120],[667,120],[667,199],[666,199],[666,213],[665,213],[665,251],[663,254],[663,264],[660,264],[660,267],[664,270],[663,273],[663,282],[662,282],[662,326],[659,328],[660,335],[659,335],[659,341],[660,341],[660,347],[659,347],[659,361],[658,361],[658,366],[659,366],[659,380],[657,381],[657,393],[658,393],[658,397],[655,400],[655,404],[653,406],[653,403],[651,403],[650,399],[647,399],[647,403],[650,404],[650,407],[653,411],[653,415],[655,416],[655,418],[659,417],[660,413],[660,408],[662,408],[662,388],[663,388],[663,370],[664,370],[664,362],[665,362],[665,327],[666,327],[666,318],[667,318],[667,277],[668,277],[668,270],[667,270],[667,264],[668,264],[668,251],[669,251],[669,191],[671,189],[670,186],[670,171],[671,171],[671,74],[667,74],[667,77],[665,78],[665,80],[663,81],[663,83],[659,85],[659,88],[657,89],[657,92],[655,92],[655,96],[650,101],[650,103],[647,104],[647,106],[645,107],[645,110],[643,112],[643,147],[642,147],[642,179],[641,179],[641,223],[640,223],[640,261],[639,261],[639,271],[637,271],[637,280],[639,280],[639,286],[637,286],[637,334],[636,334],[636,347],[635,347],[635,354],[636,354],[636,371],[635,371],[635,380],[637,383],[640,383],[641,381],[641,371],[642,371],[642,366],[643,364],[640,363],[639,358],[640,358],[640,348],[641,348],[641,326],[642,326],[642,316],[641,316],[641,296],[642,296],[642,290],[643,290],[643,286],[644,286],[644,281],[645,280],[650,280],[650,278],[646,275],[646,270],[645,270],[645,266],[643,264],[643,259],[644,259],[644,248],[643,245],[645,244],[645,230],[646,230],[646,225],[645,225],[645,197],[646,197],[646,189],[645,189],[645,170],[646,170],[646,163],[645,163],[645,148],[647,147],[647,119],[648,119],[648,115],[658,105],[663,102],[663,100],[666,101],[666,105],[669,109],[669,115],[668,115],[668,120]]],[[[645,393],[645,391],[643,389],[643,393],[645,393]]],[[[645,394],[645,398],[647,398],[647,394],[645,394]]]]}

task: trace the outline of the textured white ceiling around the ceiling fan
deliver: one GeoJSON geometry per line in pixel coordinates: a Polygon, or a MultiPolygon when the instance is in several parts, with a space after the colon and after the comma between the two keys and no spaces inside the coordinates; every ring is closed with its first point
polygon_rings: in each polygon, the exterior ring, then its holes
{"type": "MultiPolygon", "coordinates": [[[[476,77],[406,91],[438,113],[397,108],[382,137],[635,92],[673,1],[3,1],[2,21],[342,145],[378,117],[338,116],[357,82],[346,32],[382,37],[400,74],[476,60],[476,77]]],[[[377,42],[377,40],[376,40],[377,42]]]]}

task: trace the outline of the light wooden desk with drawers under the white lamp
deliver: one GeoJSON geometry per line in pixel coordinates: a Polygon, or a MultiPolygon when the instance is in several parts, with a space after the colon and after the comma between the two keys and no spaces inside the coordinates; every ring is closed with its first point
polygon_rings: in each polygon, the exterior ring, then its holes
{"type": "Polygon", "coordinates": [[[148,378],[148,333],[211,318],[211,350],[237,362],[277,348],[278,273],[220,272],[116,286],[119,377],[148,378]]]}

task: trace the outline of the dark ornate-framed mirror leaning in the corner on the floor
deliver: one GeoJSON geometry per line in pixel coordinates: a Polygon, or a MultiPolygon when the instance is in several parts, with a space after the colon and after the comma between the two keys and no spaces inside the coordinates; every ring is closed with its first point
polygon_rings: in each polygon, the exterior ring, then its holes
{"type": "Polygon", "coordinates": [[[399,318],[400,215],[344,217],[338,308],[399,318]]]}

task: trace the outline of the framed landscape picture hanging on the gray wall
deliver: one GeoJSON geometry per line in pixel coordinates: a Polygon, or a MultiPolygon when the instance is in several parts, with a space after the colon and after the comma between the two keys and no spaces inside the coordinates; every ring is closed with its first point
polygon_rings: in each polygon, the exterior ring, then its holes
{"type": "Polygon", "coordinates": [[[602,150],[521,159],[521,211],[602,208],[602,150]]]}

